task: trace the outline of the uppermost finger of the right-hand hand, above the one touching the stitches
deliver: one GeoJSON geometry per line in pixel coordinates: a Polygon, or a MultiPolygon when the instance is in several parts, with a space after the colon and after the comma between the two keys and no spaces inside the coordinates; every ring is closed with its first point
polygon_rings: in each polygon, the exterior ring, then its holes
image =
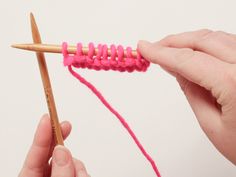
{"type": "Polygon", "coordinates": [[[198,30],[170,35],[160,41],[164,46],[191,48],[212,55],[228,63],[236,63],[235,36],[223,31],[198,30]]]}

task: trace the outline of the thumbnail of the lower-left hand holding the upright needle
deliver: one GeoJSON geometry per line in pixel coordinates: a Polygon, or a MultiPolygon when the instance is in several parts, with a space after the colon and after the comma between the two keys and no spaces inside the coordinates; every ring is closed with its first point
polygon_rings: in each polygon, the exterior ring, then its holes
{"type": "Polygon", "coordinates": [[[61,145],[55,147],[53,158],[58,166],[65,166],[69,162],[69,151],[61,145]]]}

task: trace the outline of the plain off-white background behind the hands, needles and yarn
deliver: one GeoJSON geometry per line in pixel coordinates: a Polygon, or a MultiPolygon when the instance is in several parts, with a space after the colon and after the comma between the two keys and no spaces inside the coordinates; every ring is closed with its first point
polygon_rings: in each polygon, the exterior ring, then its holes
{"type": "MultiPolygon", "coordinates": [[[[47,112],[36,57],[10,48],[30,43],[29,13],[45,43],[123,44],[201,28],[236,33],[235,0],[1,0],[0,176],[17,176],[40,116],[47,112]]],[[[66,146],[93,177],[154,177],[116,118],[75,80],[58,54],[46,55],[60,120],[73,124],[66,146]]],[[[163,177],[233,177],[236,168],[200,129],[175,79],[146,73],[78,70],[127,119],[163,177]]]]}

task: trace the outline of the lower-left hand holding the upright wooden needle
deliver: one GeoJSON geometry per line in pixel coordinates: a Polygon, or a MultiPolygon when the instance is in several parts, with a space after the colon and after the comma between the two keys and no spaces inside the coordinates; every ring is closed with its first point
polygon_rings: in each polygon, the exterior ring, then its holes
{"type": "MultiPolygon", "coordinates": [[[[65,139],[70,134],[71,124],[62,122],[61,130],[65,139]]],[[[89,177],[83,163],[72,158],[67,148],[60,145],[54,147],[50,118],[45,115],[38,125],[18,177],[89,177]]]]}

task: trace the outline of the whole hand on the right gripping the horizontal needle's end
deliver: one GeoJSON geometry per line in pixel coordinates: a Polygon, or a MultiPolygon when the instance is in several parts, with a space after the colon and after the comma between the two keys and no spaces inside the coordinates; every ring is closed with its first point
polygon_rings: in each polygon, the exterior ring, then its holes
{"type": "Polygon", "coordinates": [[[199,30],[138,49],[176,77],[203,131],[236,165],[236,36],[199,30]]]}

